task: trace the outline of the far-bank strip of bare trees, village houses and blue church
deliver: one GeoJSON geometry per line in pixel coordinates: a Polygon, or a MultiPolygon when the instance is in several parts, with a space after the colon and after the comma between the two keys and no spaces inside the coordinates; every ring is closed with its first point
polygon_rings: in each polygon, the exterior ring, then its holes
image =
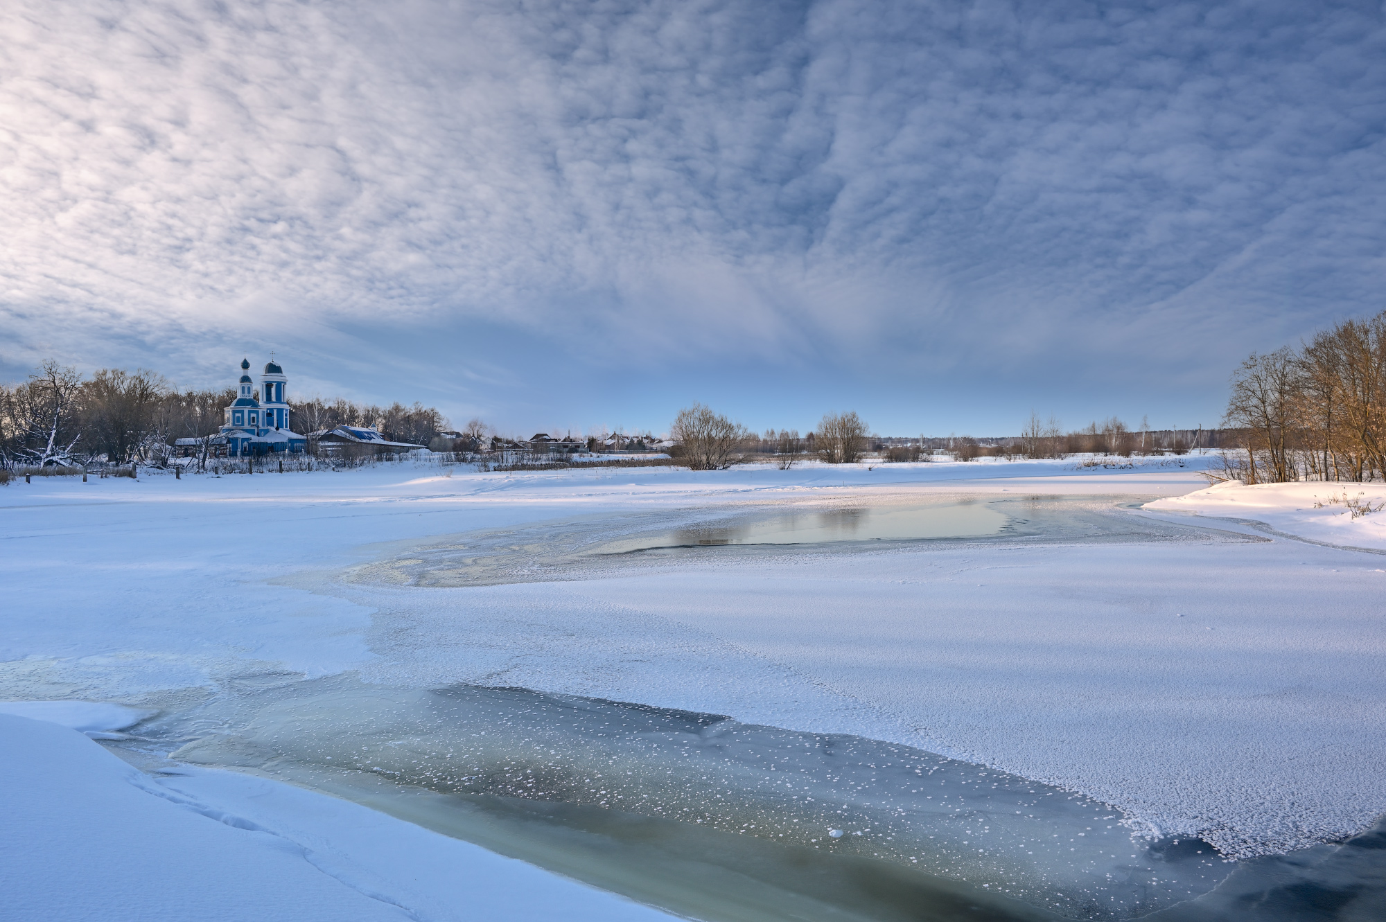
{"type": "MultiPolygon", "coordinates": [[[[412,451],[478,462],[486,469],[599,460],[593,455],[668,455],[675,464],[694,468],[729,467],[757,457],[782,467],[809,457],[829,464],[870,458],[929,461],[942,460],[941,455],[956,461],[1073,454],[1130,457],[1220,449],[1231,444],[1229,436],[1235,435],[1202,428],[1152,431],[1143,422],[1131,429],[1116,418],[1062,432],[1056,421],[1041,425],[1033,417],[1019,436],[880,436],[870,433],[855,413],[827,414],[816,432],[802,436],[794,429],[758,435],[694,404],[679,413],[667,437],[651,432],[588,436],[535,432],[529,437],[509,437],[480,419],[452,429],[437,408],[419,403],[380,407],[342,399],[295,400],[288,377],[273,356],[258,374],[252,375],[248,357],[237,371],[234,388],[180,390],[147,370],[107,368],[86,378],[47,361],[28,381],[0,385],[0,469],[169,467],[175,460],[195,460],[198,469],[208,469],[208,461],[218,460],[248,460],[247,469],[259,461],[274,462],[279,469],[313,469],[312,458],[341,465],[412,451]]],[[[643,464],[638,458],[621,462],[643,464]]]]}

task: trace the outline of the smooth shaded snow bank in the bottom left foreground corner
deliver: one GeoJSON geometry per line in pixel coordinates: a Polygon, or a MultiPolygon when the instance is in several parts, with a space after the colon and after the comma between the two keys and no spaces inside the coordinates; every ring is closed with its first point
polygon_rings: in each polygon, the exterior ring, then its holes
{"type": "Polygon", "coordinates": [[[80,734],[8,714],[0,739],[12,922],[671,918],[273,781],[154,779],[80,734]]]}

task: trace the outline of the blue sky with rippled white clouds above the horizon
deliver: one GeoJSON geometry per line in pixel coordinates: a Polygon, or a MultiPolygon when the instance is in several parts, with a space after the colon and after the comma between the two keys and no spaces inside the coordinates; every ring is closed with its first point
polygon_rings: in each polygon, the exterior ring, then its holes
{"type": "Polygon", "coordinates": [[[1375,314],[1380,3],[0,10],[0,379],[499,431],[1217,425],[1375,314]]]}

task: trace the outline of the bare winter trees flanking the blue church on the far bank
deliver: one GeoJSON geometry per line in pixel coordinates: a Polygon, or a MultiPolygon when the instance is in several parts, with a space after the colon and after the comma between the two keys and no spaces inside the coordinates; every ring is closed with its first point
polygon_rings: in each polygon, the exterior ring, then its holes
{"type": "MultiPolygon", "coordinates": [[[[179,389],[147,368],[103,368],[86,378],[46,361],[28,381],[0,385],[0,464],[42,467],[96,458],[164,464],[176,439],[216,433],[233,400],[234,388],[179,389]]],[[[446,419],[419,403],[380,407],[290,399],[295,432],[338,425],[374,425],[392,442],[428,444],[446,419]]]]}

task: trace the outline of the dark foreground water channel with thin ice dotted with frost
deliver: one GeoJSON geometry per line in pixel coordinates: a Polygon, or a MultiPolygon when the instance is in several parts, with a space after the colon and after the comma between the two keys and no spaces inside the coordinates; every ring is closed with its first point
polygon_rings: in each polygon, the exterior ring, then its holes
{"type": "Polygon", "coordinates": [[[344,796],[715,922],[1383,918],[1361,915],[1383,905],[1382,829],[1231,864],[1016,775],[718,714],[337,677],[157,717],[118,745],[344,796]]]}

